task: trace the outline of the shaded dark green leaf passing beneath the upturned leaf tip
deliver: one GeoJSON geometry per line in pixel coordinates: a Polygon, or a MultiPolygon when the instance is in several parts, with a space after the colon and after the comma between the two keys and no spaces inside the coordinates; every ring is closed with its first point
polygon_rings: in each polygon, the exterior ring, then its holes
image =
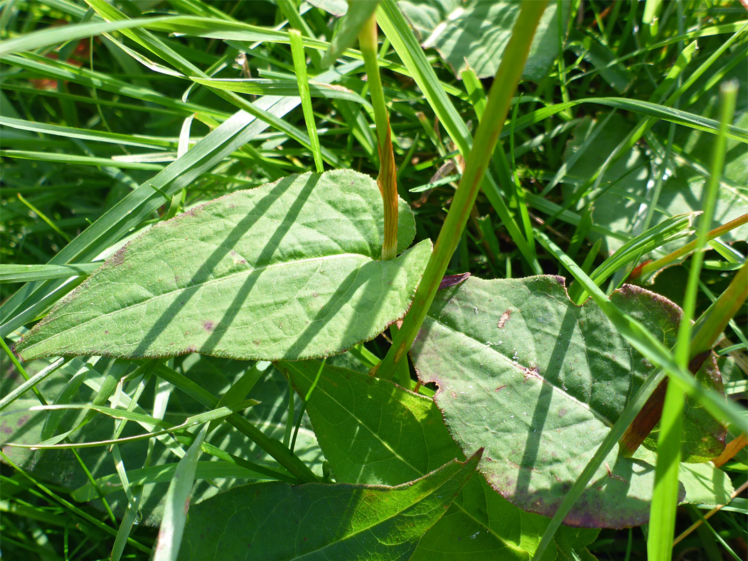
{"type": "MultiPolygon", "coordinates": [[[[299,395],[306,395],[319,361],[281,362],[299,395]]],[[[391,381],[325,364],[307,412],[319,445],[339,482],[396,485],[461,459],[434,402],[391,381]]],[[[526,560],[547,519],[523,512],[473,477],[450,509],[421,539],[411,559],[526,560]],[[462,557],[459,557],[462,558],[462,557]]],[[[560,533],[583,547],[594,530],[562,527],[560,533]],[[577,536],[576,538],[574,536],[577,536]],[[576,541],[578,539],[578,541],[576,541]]]]}

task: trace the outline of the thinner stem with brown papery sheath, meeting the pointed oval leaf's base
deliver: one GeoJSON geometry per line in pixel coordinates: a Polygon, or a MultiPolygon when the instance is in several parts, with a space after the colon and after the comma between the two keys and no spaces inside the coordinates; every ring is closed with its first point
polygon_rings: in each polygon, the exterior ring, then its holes
{"type": "Polygon", "coordinates": [[[381,259],[388,260],[397,256],[397,171],[390,137],[390,117],[387,117],[384,90],[379,78],[376,16],[373,14],[358,34],[358,45],[361,47],[361,54],[364,55],[364,68],[367,70],[374,108],[379,152],[379,175],[376,183],[384,200],[384,240],[381,244],[381,259]]]}

